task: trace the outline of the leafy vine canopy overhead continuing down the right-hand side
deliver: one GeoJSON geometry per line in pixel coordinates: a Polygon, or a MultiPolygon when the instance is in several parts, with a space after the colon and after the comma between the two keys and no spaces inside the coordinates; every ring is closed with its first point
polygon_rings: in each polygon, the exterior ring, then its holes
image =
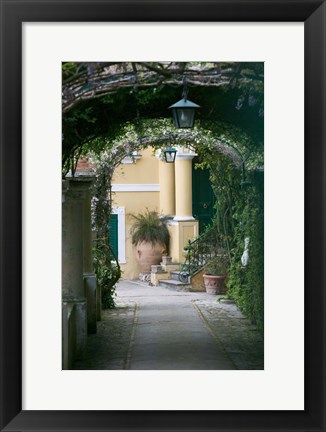
{"type": "Polygon", "coordinates": [[[91,155],[102,176],[99,194],[107,194],[115,167],[135,150],[172,141],[199,154],[220,206],[216,229],[229,241],[229,295],[262,328],[262,65],[66,63],[63,83],[63,175],[81,155],[91,155]],[[180,98],[185,74],[189,98],[201,106],[196,127],[187,132],[173,127],[167,109],[180,98]],[[251,264],[244,271],[246,237],[251,264]]]}

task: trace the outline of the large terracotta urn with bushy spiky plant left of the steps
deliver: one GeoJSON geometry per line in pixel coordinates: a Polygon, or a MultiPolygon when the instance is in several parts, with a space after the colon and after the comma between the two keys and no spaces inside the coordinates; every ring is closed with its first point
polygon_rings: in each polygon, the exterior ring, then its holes
{"type": "Polygon", "coordinates": [[[152,265],[160,264],[162,255],[169,250],[170,234],[167,218],[156,211],[132,215],[131,241],[142,273],[150,272],[152,265]]]}

